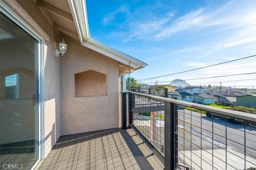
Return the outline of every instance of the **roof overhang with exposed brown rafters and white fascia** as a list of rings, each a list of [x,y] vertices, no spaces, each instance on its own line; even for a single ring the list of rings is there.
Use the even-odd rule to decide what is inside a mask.
[[[52,23],[54,29],[80,41],[84,47],[118,61],[120,74],[135,71],[148,65],[90,38],[85,0],[38,0],[37,4],[45,10],[42,13]],[[67,6],[69,6],[69,10],[67,10]],[[64,20],[61,22],[58,18]]]

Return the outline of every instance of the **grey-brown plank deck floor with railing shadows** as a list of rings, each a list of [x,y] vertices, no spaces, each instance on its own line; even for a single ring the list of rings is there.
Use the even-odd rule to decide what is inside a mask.
[[[133,129],[110,129],[58,139],[39,170],[162,170]]]

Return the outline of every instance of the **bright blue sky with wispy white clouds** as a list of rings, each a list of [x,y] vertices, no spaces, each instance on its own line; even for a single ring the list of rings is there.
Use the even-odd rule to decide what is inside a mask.
[[[137,80],[256,55],[256,0],[86,0],[86,6],[93,39],[148,63],[131,74]],[[255,65],[251,57],[142,83],[179,78],[256,88],[256,74],[188,80],[252,73]]]

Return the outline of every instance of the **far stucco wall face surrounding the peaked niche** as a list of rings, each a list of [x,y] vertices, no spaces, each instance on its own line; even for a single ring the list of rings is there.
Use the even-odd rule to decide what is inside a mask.
[[[59,57],[62,135],[118,127],[118,62],[71,39],[64,40],[68,49]],[[75,97],[74,74],[88,70],[106,74],[106,96]]]

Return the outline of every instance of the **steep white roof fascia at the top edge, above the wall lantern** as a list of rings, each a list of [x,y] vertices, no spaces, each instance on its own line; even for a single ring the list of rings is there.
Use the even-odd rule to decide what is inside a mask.
[[[68,0],[81,45],[90,38],[86,4],[84,0]]]

